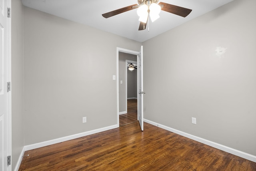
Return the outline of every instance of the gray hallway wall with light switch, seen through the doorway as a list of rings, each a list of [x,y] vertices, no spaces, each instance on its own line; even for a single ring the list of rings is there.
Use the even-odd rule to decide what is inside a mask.
[[[126,60],[137,61],[137,56],[119,52],[119,112],[126,111]],[[128,73],[127,73],[128,74]],[[120,81],[123,84],[120,84]],[[127,85],[128,86],[128,85]],[[127,87],[128,89],[128,87]]]

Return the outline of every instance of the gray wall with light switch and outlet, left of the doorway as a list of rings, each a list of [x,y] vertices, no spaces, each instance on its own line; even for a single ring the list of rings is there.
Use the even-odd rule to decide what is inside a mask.
[[[116,125],[116,48],[140,46],[24,7],[25,145]]]

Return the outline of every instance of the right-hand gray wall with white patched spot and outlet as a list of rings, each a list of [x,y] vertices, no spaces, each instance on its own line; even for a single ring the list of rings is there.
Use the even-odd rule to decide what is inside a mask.
[[[143,42],[144,118],[256,155],[255,7],[234,0]]]

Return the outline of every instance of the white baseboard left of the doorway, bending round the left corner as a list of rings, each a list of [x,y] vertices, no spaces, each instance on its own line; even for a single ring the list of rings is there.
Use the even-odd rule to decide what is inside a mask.
[[[18,169],[20,167],[20,163],[22,161],[22,157],[23,157],[25,151],[36,149],[36,148],[40,148],[40,147],[45,147],[47,145],[61,143],[61,142],[68,141],[68,140],[71,140],[71,139],[76,139],[76,138],[84,137],[86,135],[92,135],[94,133],[99,133],[99,132],[107,131],[107,130],[114,129],[114,128],[117,128],[117,127],[119,127],[119,125],[111,125],[111,126],[108,126],[108,127],[103,127],[103,128],[99,128],[99,129],[94,129],[92,131],[86,131],[86,132],[83,132],[83,133],[78,133],[78,134],[69,135],[69,136],[66,136],[66,137],[52,139],[52,140],[44,141],[44,142],[41,142],[41,143],[25,145],[23,147],[21,153],[20,153],[20,157],[18,159],[18,162],[16,164],[16,167],[15,167],[14,171],[18,171]]]

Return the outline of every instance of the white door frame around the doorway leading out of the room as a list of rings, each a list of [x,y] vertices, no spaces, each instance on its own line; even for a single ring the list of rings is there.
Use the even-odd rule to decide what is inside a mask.
[[[117,125],[119,127],[119,52],[126,53],[126,54],[132,54],[136,55],[138,58],[138,55],[140,52],[136,52],[133,50],[128,50],[124,48],[116,48],[116,96],[117,96]],[[127,79],[127,76],[126,76]],[[127,82],[127,81],[126,81]],[[138,83],[137,83],[138,84]],[[127,83],[126,83],[127,86]],[[127,101],[127,89],[126,89],[126,101]],[[127,111],[127,104],[126,104],[126,111]]]

